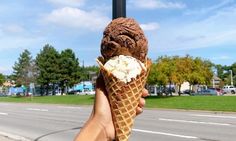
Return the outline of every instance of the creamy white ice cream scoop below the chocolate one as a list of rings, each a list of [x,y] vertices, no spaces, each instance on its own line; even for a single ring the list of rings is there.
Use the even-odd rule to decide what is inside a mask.
[[[112,73],[117,79],[128,83],[135,79],[142,70],[146,70],[144,64],[131,56],[119,55],[109,59],[104,68]]]

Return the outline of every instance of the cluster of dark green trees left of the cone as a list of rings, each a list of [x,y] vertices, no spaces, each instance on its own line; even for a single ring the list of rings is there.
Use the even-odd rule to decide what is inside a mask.
[[[29,86],[30,83],[40,85],[41,94],[48,95],[51,88],[55,94],[55,87],[61,88],[61,93],[80,81],[89,79],[89,72],[98,72],[98,67],[80,66],[79,59],[71,49],[58,52],[53,46],[46,44],[33,59],[31,53],[24,50],[13,66],[10,76],[16,86]]]

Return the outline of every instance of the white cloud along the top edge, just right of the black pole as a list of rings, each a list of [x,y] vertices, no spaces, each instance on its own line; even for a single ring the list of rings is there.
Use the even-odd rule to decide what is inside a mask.
[[[162,0],[129,0],[129,3],[143,9],[182,9],[186,5],[180,2],[166,2]]]

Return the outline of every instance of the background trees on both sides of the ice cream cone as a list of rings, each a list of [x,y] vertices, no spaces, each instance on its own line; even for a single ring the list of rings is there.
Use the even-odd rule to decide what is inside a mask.
[[[97,66],[85,67],[79,64],[79,59],[71,49],[57,51],[53,46],[46,44],[35,58],[26,49],[13,66],[13,74],[7,78],[0,73],[0,86],[6,79],[14,80],[16,86],[29,86],[30,83],[40,85],[40,90],[48,94],[49,87],[59,86],[62,92],[65,88],[83,80],[90,79],[90,73],[98,73]],[[230,71],[232,71],[233,84],[236,84],[236,62],[231,66],[213,64],[200,57],[161,56],[151,67],[147,83],[149,85],[167,86],[175,84],[180,93],[181,84],[189,82],[192,85],[211,85],[215,74],[222,81],[220,87],[231,84]],[[43,91],[41,92],[43,93]],[[55,91],[53,91],[55,94]]]

